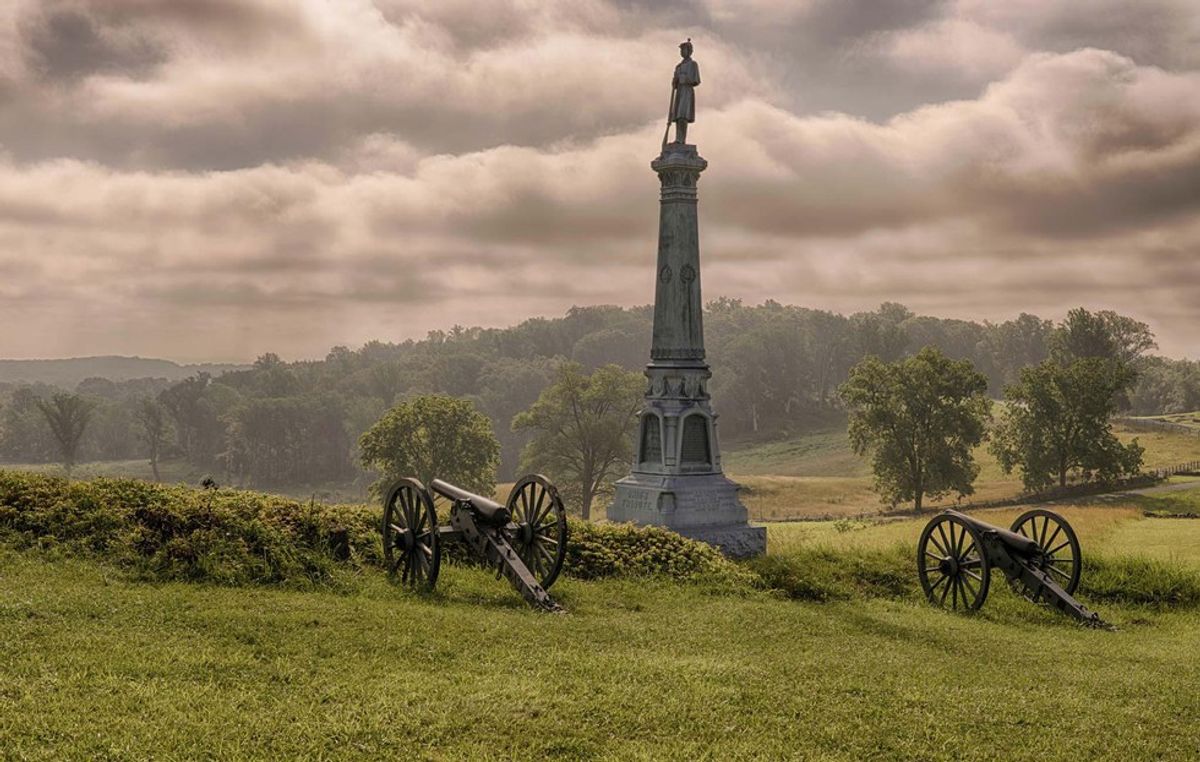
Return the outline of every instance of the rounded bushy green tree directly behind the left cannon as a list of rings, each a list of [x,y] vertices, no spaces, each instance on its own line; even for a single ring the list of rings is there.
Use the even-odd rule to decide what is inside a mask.
[[[492,421],[470,402],[422,395],[384,413],[359,439],[359,457],[382,474],[377,490],[416,476],[426,485],[443,479],[491,496],[500,445]]]

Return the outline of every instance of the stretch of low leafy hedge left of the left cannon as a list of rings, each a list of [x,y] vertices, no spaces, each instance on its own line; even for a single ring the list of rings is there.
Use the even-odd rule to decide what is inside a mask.
[[[378,563],[374,522],[364,506],[257,492],[0,472],[8,541],[100,557],[154,580],[324,582],[338,565],[335,542],[348,545],[352,564]]]

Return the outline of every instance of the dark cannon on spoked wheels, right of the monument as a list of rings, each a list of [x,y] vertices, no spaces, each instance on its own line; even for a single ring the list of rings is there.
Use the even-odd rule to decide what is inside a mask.
[[[976,611],[988,599],[991,570],[1033,602],[1086,624],[1099,616],[1072,595],[1082,559],[1079,538],[1067,520],[1044,509],[1026,511],[1008,529],[947,510],[930,520],[917,544],[917,571],[925,598],[937,606]]]

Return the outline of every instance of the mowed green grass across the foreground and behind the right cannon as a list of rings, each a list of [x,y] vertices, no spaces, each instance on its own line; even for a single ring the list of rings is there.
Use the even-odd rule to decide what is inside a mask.
[[[1200,521],[1064,512],[1085,556],[1200,568]],[[911,548],[922,524],[772,524],[770,552]],[[1168,546],[1145,542],[1158,527]],[[554,592],[570,613],[550,616],[461,568],[421,596],[374,572],[316,592],[150,584],[0,551],[0,756],[1200,755],[1200,612],[1104,604],[1118,629],[1088,630],[1004,588],[961,616],[907,599],[565,580]]]

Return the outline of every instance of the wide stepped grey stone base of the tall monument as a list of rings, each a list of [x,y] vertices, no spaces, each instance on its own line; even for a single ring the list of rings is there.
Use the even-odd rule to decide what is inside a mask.
[[[665,527],[734,558],[767,550],[766,527],[751,527],[738,485],[724,474],[632,473],[617,482],[608,520]]]

